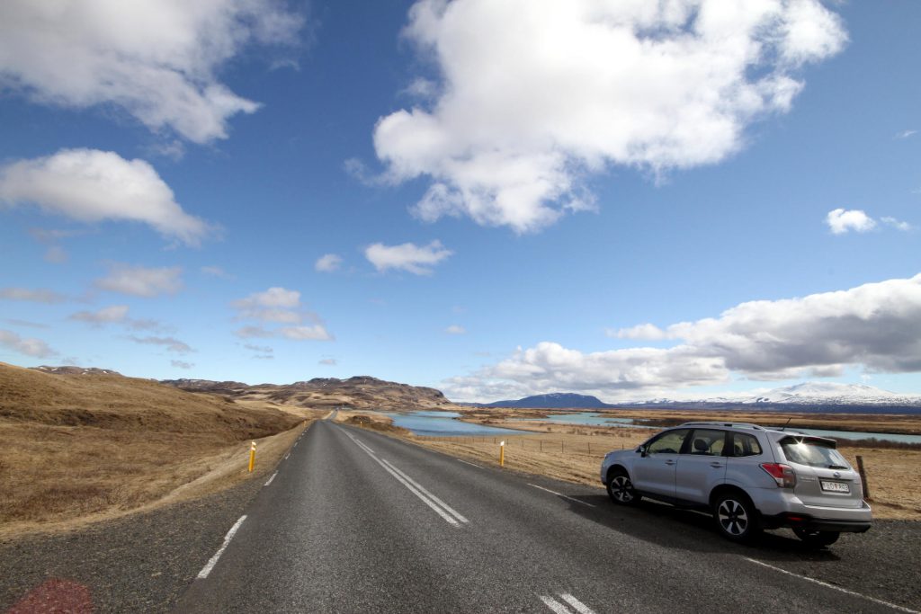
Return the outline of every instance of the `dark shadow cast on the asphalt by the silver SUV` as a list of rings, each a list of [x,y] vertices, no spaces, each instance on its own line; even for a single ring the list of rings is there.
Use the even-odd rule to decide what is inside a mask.
[[[787,529],[765,531],[751,544],[737,544],[720,536],[713,517],[701,512],[646,500],[635,506],[614,505],[606,494],[582,494],[577,499],[594,507],[570,501],[574,514],[664,548],[735,553],[769,561],[840,560],[834,546],[831,550],[810,547]]]

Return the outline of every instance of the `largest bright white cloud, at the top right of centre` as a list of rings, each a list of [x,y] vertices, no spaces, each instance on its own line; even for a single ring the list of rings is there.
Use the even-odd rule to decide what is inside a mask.
[[[425,220],[519,233],[593,208],[586,176],[610,165],[659,174],[737,152],[847,38],[816,0],[419,0],[404,36],[439,81],[379,119],[386,176],[431,181]]]

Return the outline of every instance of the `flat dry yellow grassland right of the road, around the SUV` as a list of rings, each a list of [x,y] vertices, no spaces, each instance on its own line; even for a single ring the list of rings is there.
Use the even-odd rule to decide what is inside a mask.
[[[514,416],[539,417],[545,416],[544,411],[532,412],[533,415],[522,415],[521,411],[491,410],[474,411],[468,415],[471,422],[486,423],[493,426],[522,429],[526,432],[521,435],[505,435],[501,437],[420,437],[413,434],[399,434],[408,441],[431,449],[444,452],[450,456],[468,458],[480,464],[498,466],[500,440],[506,442],[505,466],[507,469],[544,475],[556,480],[571,481],[601,488],[599,469],[601,459],[612,450],[630,449],[643,443],[649,436],[655,434],[654,430],[576,426],[561,423],[520,423],[507,420]],[[372,415],[373,422],[389,423],[386,416]],[[619,414],[620,415],[620,414]],[[727,420],[728,418],[714,415],[692,414],[682,412],[679,414],[682,422],[692,420]],[[784,414],[783,422],[790,417]],[[623,417],[634,417],[624,415]],[[637,416],[638,417],[638,416]],[[666,416],[668,417],[668,416]],[[805,424],[798,421],[802,418],[814,423],[814,428],[836,428],[840,424],[840,416],[830,415],[830,423],[810,414],[795,416],[797,425],[806,428]],[[777,416],[757,416],[756,414],[744,417],[745,422],[772,423]],[[767,422],[764,422],[764,421]],[[913,432],[918,428],[917,416],[904,416],[897,418],[904,431]],[[735,422],[741,422],[740,417],[734,417]],[[781,424],[783,423],[781,422]],[[874,416],[875,423],[884,423],[879,416]],[[855,428],[850,430],[869,431],[869,428],[857,428],[857,420],[848,421]],[[380,429],[377,429],[380,430]],[[404,429],[400,429],[403,431]],[[886,430],[886,429],[882,429]],[[857,455],[863,457],[867,470],[871,504],[876,518],[892,518],[905,520],[921,520],[921,490],[915,488],[917,475],[921,469],[921,450],[899,449],[898,446],[884,446],[864,444],[852,445],[840,440],[839,448],[845,458],[857,467]]]

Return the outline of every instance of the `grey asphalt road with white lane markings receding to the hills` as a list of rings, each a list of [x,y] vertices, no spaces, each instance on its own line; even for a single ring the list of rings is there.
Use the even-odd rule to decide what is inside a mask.
[[[902,525],[814,551],[782,532],[732,544],[710,522],[318,422],[177,611],[921,609],[918,562],[893,556],[916,539]]]

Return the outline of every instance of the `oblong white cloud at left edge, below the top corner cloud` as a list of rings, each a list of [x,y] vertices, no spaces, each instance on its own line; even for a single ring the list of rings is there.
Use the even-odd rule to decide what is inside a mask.
[[[182,210],[146,161],[97,149],[62,149],[7,164],[0,168],[0,202],[36,204],[81,222],[142,222],[187,245],[200,244],[211,231]]]

